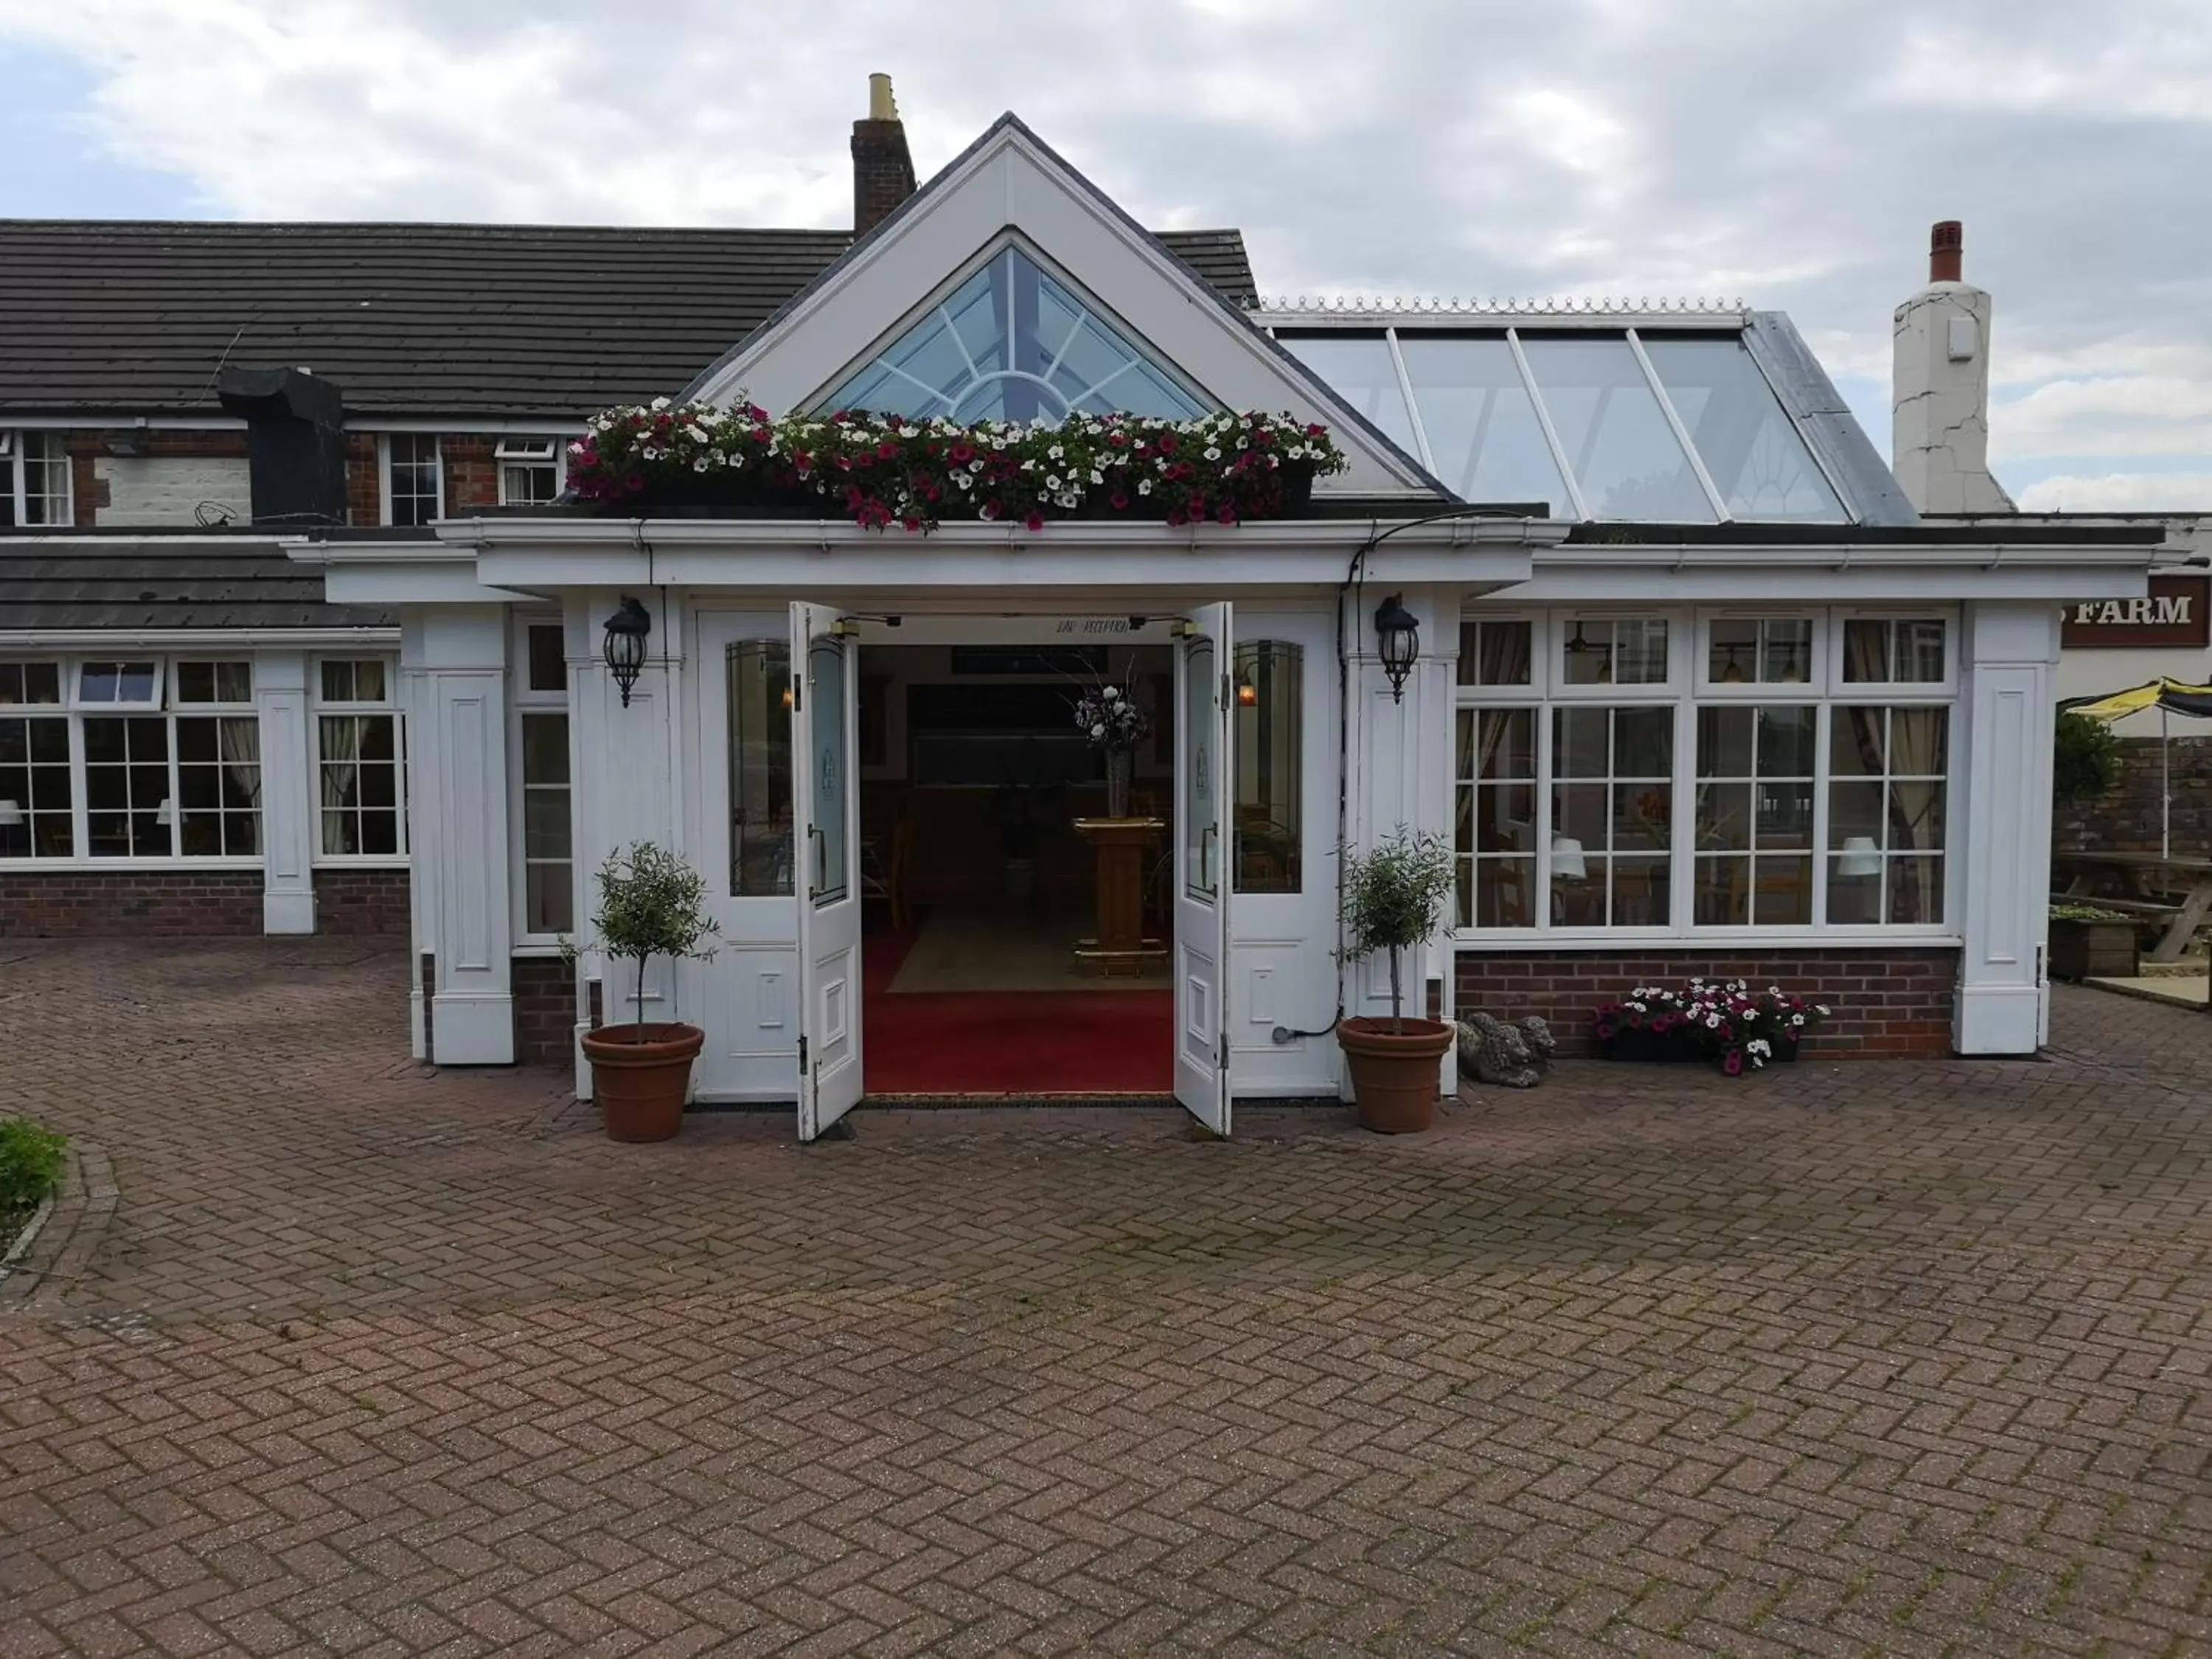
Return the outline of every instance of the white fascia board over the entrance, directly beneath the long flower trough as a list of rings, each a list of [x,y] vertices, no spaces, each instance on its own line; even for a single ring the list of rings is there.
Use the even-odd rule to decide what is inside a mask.
[[[701,586],[759,593],[993,593],[1113,588],[1230,593],[1336,588],[1371,520],[1188,526],[1053,522],[945,524],[931,535],[792,520],[476,520],[476,571],[500,588]],[[1557,542],[1555,520],[1438,520],[1391,535],[1367,560],[1369,584],[1526,582],[1531,546]]]

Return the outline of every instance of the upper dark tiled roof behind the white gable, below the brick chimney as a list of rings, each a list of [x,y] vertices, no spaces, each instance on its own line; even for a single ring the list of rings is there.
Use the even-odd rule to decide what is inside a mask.
[[[1237,230],[1161,241],[1252,303]],[[0,219],[0,409],[212,414],[215,369],[312,367],[354,414],[562,416],[675,394],[843,230]]]

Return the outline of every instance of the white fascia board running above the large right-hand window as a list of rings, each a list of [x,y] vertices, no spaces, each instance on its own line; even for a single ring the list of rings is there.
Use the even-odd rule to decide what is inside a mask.
[[[1513,599],[1597,604],[1887,604],[1936,599],[2132,599],[2150,591],[2141,546],[1548,546]]]

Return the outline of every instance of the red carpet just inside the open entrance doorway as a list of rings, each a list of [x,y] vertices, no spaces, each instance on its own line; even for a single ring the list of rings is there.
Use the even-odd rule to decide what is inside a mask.
[[[902,991],[911,936],[860,947],[860,1071],[872,1095],[1168,1095],[1168,991]]]

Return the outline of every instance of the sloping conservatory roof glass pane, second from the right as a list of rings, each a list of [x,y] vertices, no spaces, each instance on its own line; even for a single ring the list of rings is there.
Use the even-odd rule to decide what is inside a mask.
[[[1522,352],[1593,518],[1714,522],[1712,502],[1626,338],[1524,334]]]

